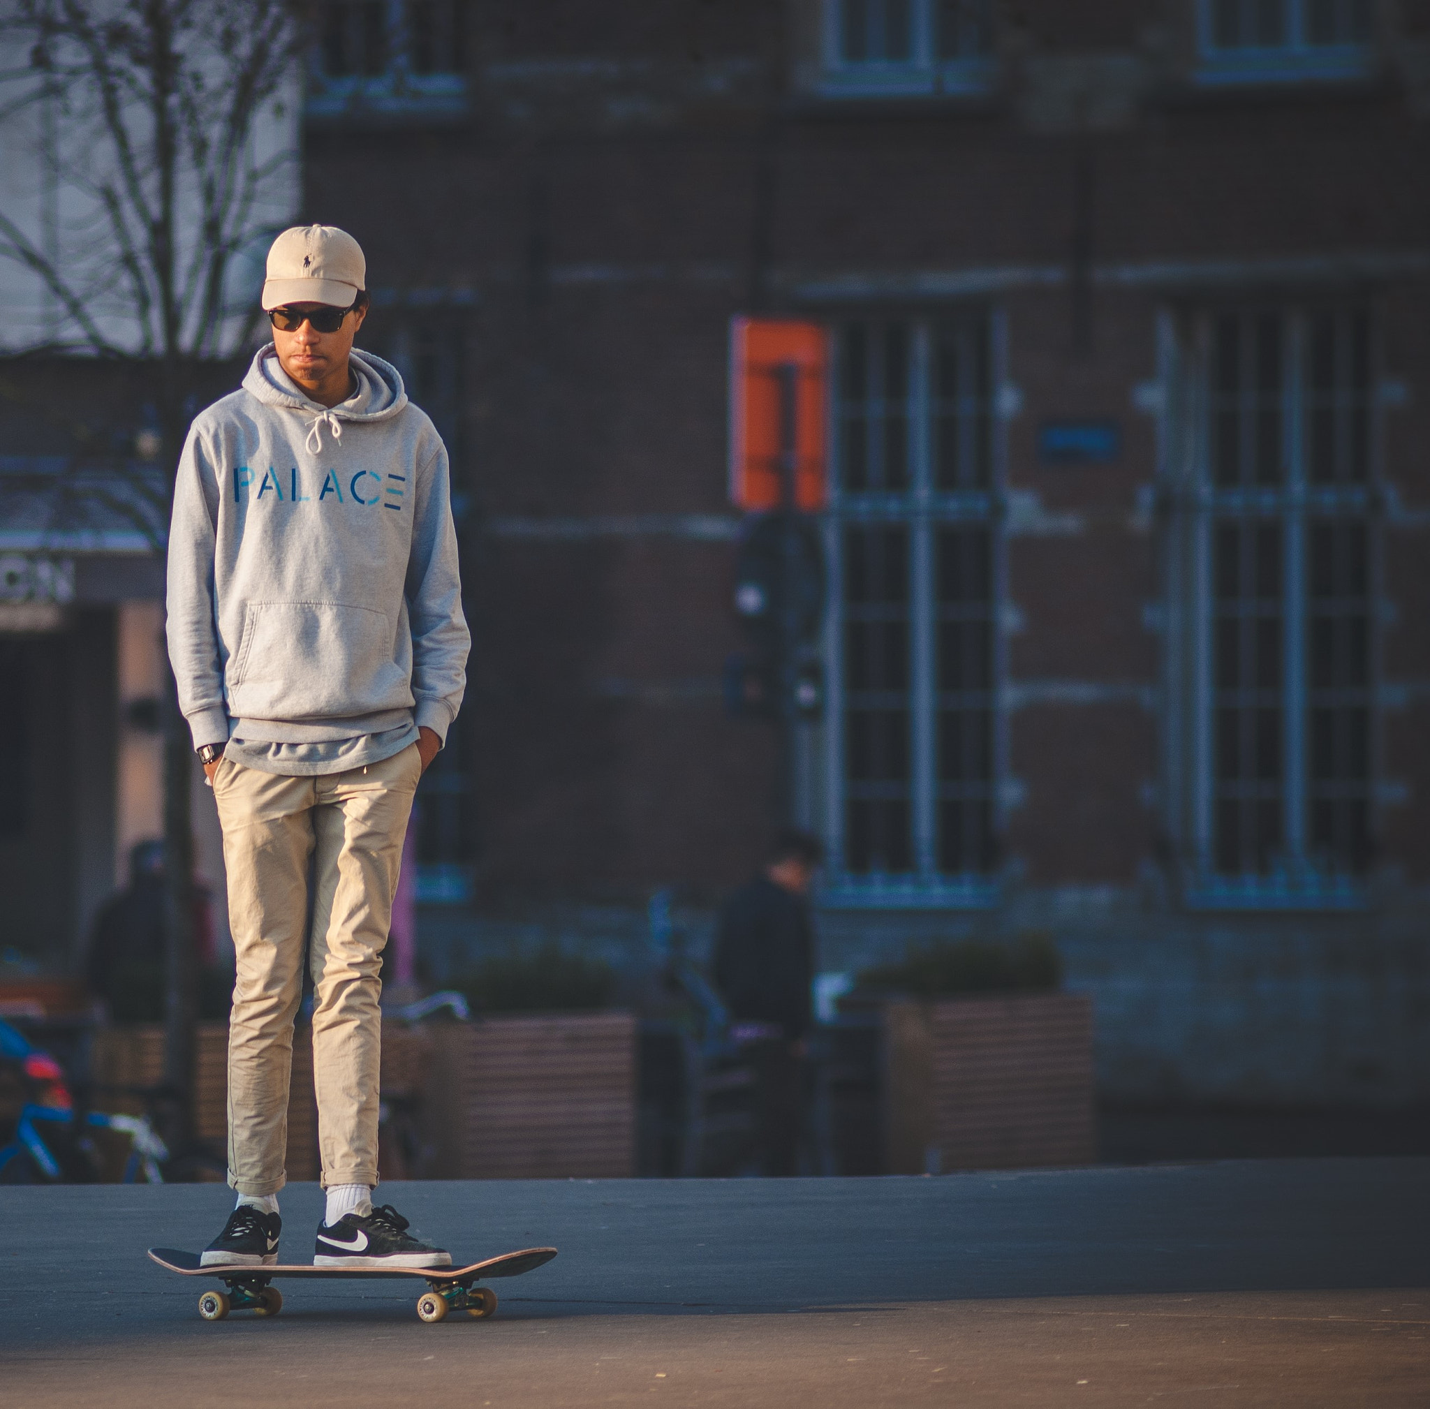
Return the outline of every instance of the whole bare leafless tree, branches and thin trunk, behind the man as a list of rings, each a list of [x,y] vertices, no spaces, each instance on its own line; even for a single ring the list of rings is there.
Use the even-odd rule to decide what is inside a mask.
[[[56,250],[44,250],[20,219],[4,215],[0,257],[41,280],[87,350],[143,368],[160,436],[157,463],[140,468],[106,455],[64,476],[50,514],[89,524],[82,511],[97,508],[109,521],[132,525],[159,554],[180,445],[206,385],[203,359],[232,346],[235,325],[246,336],[257,316],[249,308],[236,319],[226,300],[235,259],[263,233],[259,203],[289,156],[260,160],[255,130],[263,104],[292,73],[303,0],[6,3],[11,19],[0,27],[33,40],[33,49],[27,89],[0,106],[0,123],[27,120],[39,93],[54,94],[72,140],[63,159],[47,153],[44,160],[49,175],[83,193],[87,205],[72,212],[69,226],[86,245],[79,259],[69,250],[61,267]],[[21,76],[0,73],[0,82],[7,79]],[[93,137],[89,146],[76,140],[80,132]],[[83,273],[72,273],[72,262]],[[90,298],[87,285],[94,286]],[[116,308],[126,332],[112,335],[104,319]],[[127,352],[119,346],[126,336],[133,343]],[[164,1071],[189,1093],[197,1011],[192,755],[172,688],[164,698]],[[190,1129],[189,1104],[180,1106],[172,1131],[179,1139]]]

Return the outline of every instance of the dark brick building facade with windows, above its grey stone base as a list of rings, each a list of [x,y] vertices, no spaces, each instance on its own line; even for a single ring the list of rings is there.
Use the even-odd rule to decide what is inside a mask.
[[[369,10],[326,11],[306,209],[460,446],[429,861],[589,895],[758,855],[774,741],[719,689],[754,310],[835,335],[831,907],[1426,880],[1413,6],[432,3],[382,47]]]

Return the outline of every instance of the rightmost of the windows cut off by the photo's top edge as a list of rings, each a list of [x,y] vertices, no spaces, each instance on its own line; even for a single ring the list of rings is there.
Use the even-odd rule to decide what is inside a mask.
[[[1208,83],[1347,79],[1371,63],[1373,0],[1203,0]]]

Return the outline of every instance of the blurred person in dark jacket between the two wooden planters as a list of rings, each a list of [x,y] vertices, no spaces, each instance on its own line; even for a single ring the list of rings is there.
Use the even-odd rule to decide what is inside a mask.
[[[772,1176],[798,1172],[814,1018],[809,888],[822,860],[818,837],[782,831],[764,871],[721,907],[715,936],[715,986],[758,1074],[761,1167]]]

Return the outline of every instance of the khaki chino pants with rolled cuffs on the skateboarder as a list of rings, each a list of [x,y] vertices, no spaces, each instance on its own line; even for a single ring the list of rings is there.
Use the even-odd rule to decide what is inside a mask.
[[[366,768],[303,778],[219,761],[213,795],[237,956],[229,1183],[242,1194],[277,1193],[286,1180],[305,951],[323,1187],[378,1183],[379,973],[420,775],[416,744]]]

